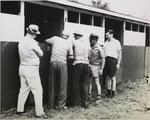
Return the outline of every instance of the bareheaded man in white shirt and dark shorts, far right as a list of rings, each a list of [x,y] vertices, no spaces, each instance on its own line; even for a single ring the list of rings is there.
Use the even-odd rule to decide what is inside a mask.
[[[121,44],[113,38],[113,30],[106,32],[106,42],[104,43],[104,52],[106,62],[104,68],[104,76],[108,76],[107,97],[114,97],[116,91],[116,71],[120,68],[121,62]]]

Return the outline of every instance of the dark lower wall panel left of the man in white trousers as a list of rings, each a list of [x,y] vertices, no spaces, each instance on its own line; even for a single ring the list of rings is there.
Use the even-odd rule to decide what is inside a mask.
[[[19,92],[17,42],[1,42],[1,107],[16,106]]]

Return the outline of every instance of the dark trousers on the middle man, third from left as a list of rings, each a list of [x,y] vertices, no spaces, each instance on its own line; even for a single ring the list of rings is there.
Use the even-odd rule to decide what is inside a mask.
[[[87,100],[89,87],[89,68],[88,64],[76,64],[73,70],[73,105],[75,105],[78,97],[78,89],[80,90],[81,102]]]

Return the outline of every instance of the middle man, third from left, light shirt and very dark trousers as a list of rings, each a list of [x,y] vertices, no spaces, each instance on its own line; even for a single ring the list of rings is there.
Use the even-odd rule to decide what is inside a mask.
[[[89,44],[82,38],[81,32],[75,32],[74,48],[74,72],[73,72],[73,106],[76,104],[78,88],[80,89],[80,97],[82,107],[88,108],[88,86],[89,86],[89,71],[88,71],[88,51]]]

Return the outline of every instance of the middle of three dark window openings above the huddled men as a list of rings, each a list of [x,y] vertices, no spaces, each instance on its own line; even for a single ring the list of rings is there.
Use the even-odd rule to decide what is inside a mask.
[[[81,13],[81,24],[92,25],[92,16],[88,14]]]

